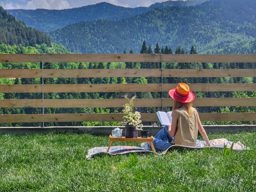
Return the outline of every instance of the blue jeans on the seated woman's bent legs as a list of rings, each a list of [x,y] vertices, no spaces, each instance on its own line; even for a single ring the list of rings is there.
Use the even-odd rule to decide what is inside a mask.
[[[170,146],[174,145],[171,143],[171,141],[174,139],[174,137],[171,137],[168,133],[168,126],[164,126],[158,134],[155,135],[153,140],[153,145],[156,150],[164,151],[168,149]],[[149,145],[149,143],[148,143]],[[151,149],[150,145],[149,148]],[[152,150],[152,149],[151,149]]]

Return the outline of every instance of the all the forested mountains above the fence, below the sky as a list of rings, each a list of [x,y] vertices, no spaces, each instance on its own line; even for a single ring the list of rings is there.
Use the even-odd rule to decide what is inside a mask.
[[[149,46],[158,42],[188,52],[192,45],[198,53],[256,52],[255,0],[165,1],[137,8],[102,2],[65,10],[8,11],[26,21],[0,7],[0,43],[10,45],[51,46],[52,41],[74,53],[122,53],[124,48],[139,53],[145,40]],[[45,34],[27,25],[59,29]]]

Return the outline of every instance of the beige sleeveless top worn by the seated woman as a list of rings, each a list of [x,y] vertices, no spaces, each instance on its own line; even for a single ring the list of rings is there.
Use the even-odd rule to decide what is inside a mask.
[[[176,133],[171,143],[175,145],[196,146],[198,125],[196,111],[191,109],[192,116],[188,116],[185,107],[178,108],[179,116]]]

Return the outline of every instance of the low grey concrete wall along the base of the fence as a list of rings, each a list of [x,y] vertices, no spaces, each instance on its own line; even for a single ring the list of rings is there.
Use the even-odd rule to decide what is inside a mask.
[[[256,132],[256,125],[214,125],[203,126],[207,133],[238,133],[238,132]],[[90,133],[92,135],[110,135],[111,130],[116,127],[100,126],[100,127],[0,127],[1,134],[47,134],[47,133]],[[124,127],[119,127],[124,129]],[[144,126],[143,130],[148,130],[150,135],[156,135],[162,127]],[[139,131],[140,133],[140,131]],[[124,130],[123,130],[124,134]]]

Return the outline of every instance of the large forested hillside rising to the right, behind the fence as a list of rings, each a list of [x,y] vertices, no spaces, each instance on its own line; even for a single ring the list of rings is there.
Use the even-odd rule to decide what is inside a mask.
[[[255,40],[255,0],[211,0],[198,6],[151,9],[119,21],[79,22],[50,32],[52,41],[71,52],[120,53],[124,47],[139,52],[146,39],[199,53],[239,53]]]

